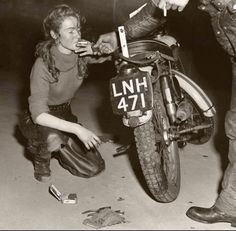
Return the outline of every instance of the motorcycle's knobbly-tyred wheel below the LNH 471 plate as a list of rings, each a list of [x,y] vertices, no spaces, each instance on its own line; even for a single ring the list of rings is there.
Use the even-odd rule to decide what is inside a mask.
[[[177,141],[167,143],[168,116],[158,87],[154,88],[153,117],[134,129],[136,148],[147,186],[158,202],[174,201],[180,190],[180,159]]]

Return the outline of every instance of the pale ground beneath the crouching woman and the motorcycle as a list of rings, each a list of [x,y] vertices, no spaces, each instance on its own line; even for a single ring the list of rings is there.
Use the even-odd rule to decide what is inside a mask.
[[[111,206],[125,212],[127,223],[104,229],[146,230],[210,230],[231,229],[229,224],[206,225],[186,217],[193,205],[211,206],[222,177],[222,155],[227,155],[224,132],[217,127],[210,142],[201,146],[188,145],[181,152],[181,191],[176,201],[157,203],[147,194],[142,181],[135,149],[114,157],[116,148],[132,142],[131,130],[111,113],[107,82],[86,82],[73,101],[79,120],[99,135],[118,136],[119,143],[105,143],[100,152],[106,170],[97,177],[83,179],[72,176],[57,160],[52,159],[52,180],[38,183],[33,178],[33,166],[24,156],[22,138],[16,130],[21,109],[24,82],[16,74],[1,72],[0,85],[0,229],[91,229],[82,224],[88,209]],[[227,92],[209,90],[217,101],[219,115],[225,112]],[[220,105],[220,106],[219,106]],[[220,119],[218,119],[219,121]],[[63,205],[48,192],[53,183],[63,193],[77,193],[77,205]]]

